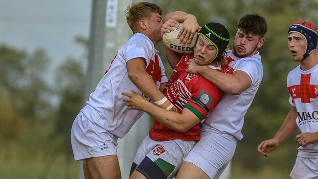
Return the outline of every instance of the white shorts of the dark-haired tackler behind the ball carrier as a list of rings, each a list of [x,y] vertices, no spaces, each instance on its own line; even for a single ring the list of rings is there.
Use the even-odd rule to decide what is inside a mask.
[[[210,179],[218,179],[232,159],[235,148],[233,135],[221,134],[213,128],[201,129],[201,139],[184,161],[201,168]]]

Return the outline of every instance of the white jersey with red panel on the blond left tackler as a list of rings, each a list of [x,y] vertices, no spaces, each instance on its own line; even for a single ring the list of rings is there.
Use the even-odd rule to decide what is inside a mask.
[[[134,58],[146,59],[146,71],[152,76],[159,88],[168,81],[164,67],[152,41],[141,33],[136,33],[117,52],[103,78],[89,101],[81,110],[92,123],[122,138],[131,129],[143,111],[128,110],[122,100],[127,98],[121,92],[142,92],[130,81],[126,63]],[[143,94],[144,95],[144,94]],[[145,96],[145,95],[144,95]],[[147,97],[148,100],[149,97]]]

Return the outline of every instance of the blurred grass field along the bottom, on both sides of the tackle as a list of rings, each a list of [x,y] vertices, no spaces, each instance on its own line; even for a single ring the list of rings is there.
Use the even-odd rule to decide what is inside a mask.
[[[20,144],[6,143],[0,148],[0,179],[78,179],[79,162],[73,156],[54,154],[54,149],[25,150]],[[40,152],[37,152],[40,151]],[[264,165],[255,171],[232,162],[230,179],[290,179],[291,168]]]

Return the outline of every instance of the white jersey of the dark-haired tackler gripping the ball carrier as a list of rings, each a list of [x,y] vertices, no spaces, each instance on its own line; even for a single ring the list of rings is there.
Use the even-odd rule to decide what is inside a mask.
[[[215,128],[221,133],[232,134],[238,140],[243,138],[241,133],[244,124],[244,115],[250,107],[258,87],[263,78],[261,56],[257,52],[247,58],[234,56],[232,50],[227,50],[229,67],[232,70],[246,72],[252,81],[251,86],[239,95],[224,93],[220,103],[205,119],[203,128]]]

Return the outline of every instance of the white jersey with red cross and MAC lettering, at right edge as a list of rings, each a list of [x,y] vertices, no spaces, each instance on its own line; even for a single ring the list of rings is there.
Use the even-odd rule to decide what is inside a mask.
[[[298,113],[295,122],[300,132],[316,133],[318,131],[318,65],[307,71],[301,70],[300,66],[293,69],[287,76],[287,88],[290,94],[289,101],[296,107]],[[309,144],[305,148],[299,147],[298,150],[317,153],[318,143]],[[301,153],[298,153],[298,156],[299,154]]]

